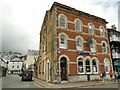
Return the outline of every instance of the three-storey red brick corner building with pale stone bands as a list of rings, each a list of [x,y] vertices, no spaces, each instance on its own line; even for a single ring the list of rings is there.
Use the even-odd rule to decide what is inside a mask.
[[[54,2],[40,31],[38,78],[51,83],[95,80],[112,70],[106,20]]]

